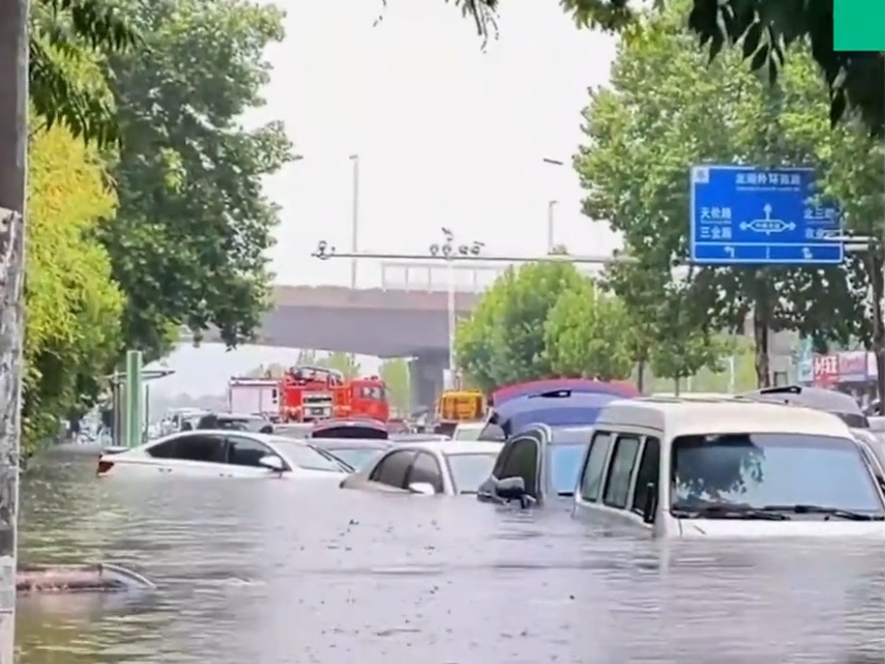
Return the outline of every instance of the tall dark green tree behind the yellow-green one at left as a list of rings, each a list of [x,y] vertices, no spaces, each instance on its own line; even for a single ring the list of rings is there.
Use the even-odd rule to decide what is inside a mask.
[[[262,179],[291,157],[283,125],[241,124],[268,80],[281,12],[239,0],[126,0],[143,41],[110,58],[123,147],[101,234],[128,296],[126,336],[162,354],[183,324],[234,346],[267,306],[277,208]]]

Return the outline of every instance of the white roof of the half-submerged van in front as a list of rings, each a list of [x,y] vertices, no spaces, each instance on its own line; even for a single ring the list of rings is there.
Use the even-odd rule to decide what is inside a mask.
[[[612,401],[599,413],[596,427],[605,430],[607,424],[633,424],[674,435],[791,433],[851,437],[844,422],[824,411],[727,398]]]

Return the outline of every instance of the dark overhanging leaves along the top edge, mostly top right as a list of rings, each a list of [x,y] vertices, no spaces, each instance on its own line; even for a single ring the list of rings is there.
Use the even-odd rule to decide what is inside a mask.
[[[496,33],[495,14],[501,0],[451,0],[470,16],[483,38]],[[660,10],[678,5],[679,16],[692,33],[686,46],[705,47],[715,59],[727,45],[738,45],[739,56],[749,60],[747,69],[759,71],[774,81],[789,48],[804,50],[811,45],[815,64],[827,85],[828,110],[832,124],[851,108],[871,134],[885,135],[885,60],[881,53],[834,50],[832,1],[816,0],[655,0]],[[563,10],[579,27],[600,27],[608,32],[634,32],[644,18],[627,0],[560,0]],[[633,3],[635,4],[635,3]],[[706,56],[705,56],[706,57]],[[698,71],[715,78],[715,71]],[[820,75],[818,75],[820,76]]]

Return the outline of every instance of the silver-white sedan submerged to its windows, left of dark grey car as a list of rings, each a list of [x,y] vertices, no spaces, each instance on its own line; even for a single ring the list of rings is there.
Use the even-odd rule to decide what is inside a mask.
[[[476,493],[501,451],[502,443],[422,440],[390,448],[372,463],[342,481],[342,489],[423,495]]]

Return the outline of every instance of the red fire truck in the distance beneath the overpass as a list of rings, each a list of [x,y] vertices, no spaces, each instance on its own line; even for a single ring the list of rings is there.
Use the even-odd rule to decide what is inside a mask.
[[[347,380],[341,371],[296,365],[280,379],[280,419],[315,422],[332,417],[371,417],[387,422],[387,387],[378,376]]]

